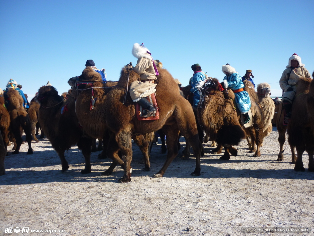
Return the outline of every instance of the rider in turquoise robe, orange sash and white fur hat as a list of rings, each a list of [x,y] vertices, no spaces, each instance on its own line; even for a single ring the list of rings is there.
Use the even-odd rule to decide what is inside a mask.
[[[249,94],[243,90],[244,84],[241,80],[241,76],[229,63],[222,66],[222,72],[226,75],[223,80],[223,85],[225,88],[230,87],[235,93],[236,106],[243,114],[244,124],[247,124],[250,121],[248,111],[251,108],[251,100]]]

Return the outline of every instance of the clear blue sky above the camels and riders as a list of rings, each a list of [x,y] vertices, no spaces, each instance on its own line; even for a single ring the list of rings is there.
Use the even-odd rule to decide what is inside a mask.
[[[124,65],[136,64],[133,44],[143,42],[183,85],[195,63],[220,81],[229,63],[279,96],[293,53],[314,70],[313,8],[313,0],[0,0],[0,87],[12,78],[32,98],[49,80],[61,94],[87,59],[117,81]]]

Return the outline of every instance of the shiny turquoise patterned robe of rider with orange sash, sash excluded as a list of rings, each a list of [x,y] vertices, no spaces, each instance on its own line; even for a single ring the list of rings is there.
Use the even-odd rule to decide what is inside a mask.
[[[238,73],[233,73],[224,77],[224,80],[227,80],[228,87],[232,91],[235,91],[240,88],[244,88],[242,79]],[[236,106],[241,113],[248,112],[251,108],[251,100],[249,94],[246,91],[241,91],[235,93]]]

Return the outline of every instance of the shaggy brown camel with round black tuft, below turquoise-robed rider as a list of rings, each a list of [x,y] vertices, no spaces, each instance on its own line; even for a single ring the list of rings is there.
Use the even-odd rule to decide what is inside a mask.
[[[245,133],[240,126],[234,104],[230,99],[225,99],[222,90],[218,79],[208,78],[201,91],[197,114],[200,125],[209,137],[216,140],[219,147],[225,148],[225,154],[220,159],[229,160],[229,152],[233,156],[238,153],[232,145],[238,145]]]

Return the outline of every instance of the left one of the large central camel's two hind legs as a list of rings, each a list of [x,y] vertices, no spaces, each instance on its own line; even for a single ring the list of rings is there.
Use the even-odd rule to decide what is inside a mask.
[[[160,169],[160,171],[154,174],[153,176],[154,178],[163,177],[165,174],[165,171],[167,170],[172,160],[176,157],[176,155],[178,155],[177,140],[179,138],[179,130],[166,125],[162,128],[162,131],[165,133],[167,137],[167,149],[168,149],[167,160],[165,161],[165,164]]]

